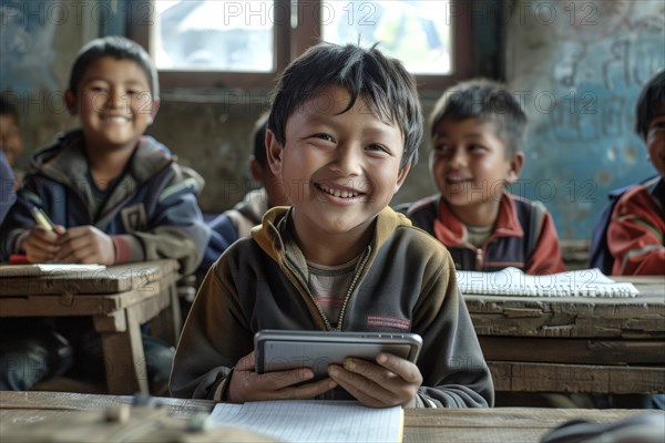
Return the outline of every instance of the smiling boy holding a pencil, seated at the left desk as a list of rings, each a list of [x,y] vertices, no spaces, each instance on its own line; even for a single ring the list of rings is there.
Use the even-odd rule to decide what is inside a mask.
[[[31,262],[103,265],[174,258],[182,275],[194,272],[208,230],[194,181],[185,178],[164,145],[143,135],[160,103],[147,53],[120,37],[91,41],[76,56],[64,100],[82,127],[34,154],[33,171],[2,225],[0,255],[25,254]],[[53,229],[35,224],[33,207],[44,210]],[[82,375],[102,375],[101,339],[90,319],[57,318],[53,323],[51,331],[72,344]],[[21,337],[9,331],[2,338],[17,360]],[[23,339],[25,361],[35,347],[45,346],[43,337]],[[143,343],[149,382],[152,388],[164,385],[174,350],[146,333]],[[31,362],[41,370],[30,374],[21,372],[20,359],[17,368],[3,364],[0,385],[30,389],[66,369],[57,354],[42,360]]]

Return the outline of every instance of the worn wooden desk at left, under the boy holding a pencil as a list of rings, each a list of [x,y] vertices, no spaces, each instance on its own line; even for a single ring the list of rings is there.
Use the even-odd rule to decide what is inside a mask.
[[[154,327],[167,328],[170,341],[176,342],[177,269],[175,260],[158,260],[94,272],[0,278],[0,317],[92,317],[102,336],[109,392],[149,393],[140,327],[160,317]]]

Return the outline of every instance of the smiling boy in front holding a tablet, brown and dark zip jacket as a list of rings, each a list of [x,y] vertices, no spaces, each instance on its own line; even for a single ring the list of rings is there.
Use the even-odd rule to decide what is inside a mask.
[[[174,395],[493,403],[448,251],[388,206],[417,159],[422,124],[413,79],[374,47],[320,43],[289,64],[266,146],[291,207],[269,209],[208,271],[178,342]],[[255,372],[262,329],[417,332],[423,347],[417,364],[348,358],[311,381],[306,368]]]

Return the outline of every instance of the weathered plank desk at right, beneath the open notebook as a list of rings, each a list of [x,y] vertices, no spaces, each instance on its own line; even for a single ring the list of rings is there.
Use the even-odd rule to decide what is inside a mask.
[[[495,390],[665,392],[665,277],[621,280],[641,295],[464,296]]]

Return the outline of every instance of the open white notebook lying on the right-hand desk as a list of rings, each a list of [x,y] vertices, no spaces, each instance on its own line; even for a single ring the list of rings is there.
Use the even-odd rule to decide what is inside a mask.
[[[548,276],[530,276],[518,268],[495,272],[458,270],[462,293],[525,297],[635,297],[633,284],[616,282],[600,269],[571,270]]]

